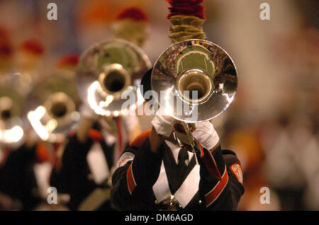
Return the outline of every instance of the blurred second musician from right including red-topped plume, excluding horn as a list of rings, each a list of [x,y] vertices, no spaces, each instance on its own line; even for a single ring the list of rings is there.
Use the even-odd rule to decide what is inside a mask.
[[[147,16],[139,8],[126,8],[114,22],[114,35],[141,46],[146,40]],[[131,29],[136,28],[136,29]],[[130,30],[130,32],[128,32]],[[82,105],[82,119],[69,135],[61,168],[51,184],[70,195],[71,210],[113,210],[109,201],[111,175],[128,142],[141,132],[136,115],[101,117]]]

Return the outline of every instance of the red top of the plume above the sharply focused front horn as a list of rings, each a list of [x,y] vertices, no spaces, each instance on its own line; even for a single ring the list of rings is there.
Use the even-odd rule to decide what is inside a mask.
[[[205,17],[205,8],[201,6],[203,0],[165,0],[172,7],[169,7],[169,15],[167,19],[171,18],[171,16],[196,16],[198,18],[206,18]]]

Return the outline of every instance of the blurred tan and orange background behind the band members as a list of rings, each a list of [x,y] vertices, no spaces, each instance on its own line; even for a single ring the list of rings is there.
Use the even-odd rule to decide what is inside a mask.
[[[56,1],[57,21],[47,19],[50,2],[0,0],[0,76],[28,68],[44,79],[60,57],[112,38],[111,25],[128,6],[149,17],[142,49],[152,64],[171,45],[164,0]],[[262,2],[270,6],[269,21],[259,18]],[[235,100],[213,125],[223,149],[242,162],[245,194],[238,210],[318,210],[318,1],[206,0],[203,6],[206,39],[237,67]],[[38,43],[31,53],[23,47],[27,40]],[[150,128],[152,117],[139,119],[142,129]],[[269,204],[260,202],[262,187],[270,190]],[[6,201],[3,195],[0,206]]]

